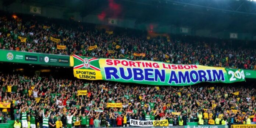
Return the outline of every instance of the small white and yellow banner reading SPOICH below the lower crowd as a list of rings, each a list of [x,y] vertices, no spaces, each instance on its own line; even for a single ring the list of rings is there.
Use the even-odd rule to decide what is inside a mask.
[[[141,120],[134,120],[130,119],[131,126],[168,126],[168,120],[148,120],[148,121],[141,121]]]

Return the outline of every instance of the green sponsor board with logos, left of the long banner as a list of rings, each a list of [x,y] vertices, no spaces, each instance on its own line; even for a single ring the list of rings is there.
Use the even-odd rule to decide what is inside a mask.
[[[31,53],[0,49],[0,61],[10,63],[70,66],[70,57],[57,54]]]

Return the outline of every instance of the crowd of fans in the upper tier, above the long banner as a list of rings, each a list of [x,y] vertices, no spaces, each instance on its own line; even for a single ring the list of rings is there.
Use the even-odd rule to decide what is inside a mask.
[[[115,31],[111,34],[99,27],[32,19],[17,18],[16,15],[0,17],[0,49],[256,70],[256,49],[248,42],[231,43],[216,39],[206,42],[171,36],[147,39],[147,35]],[[18,36],[27,38],[26,43]],[[53,42],[50,37],[60,39],[60,42]],[[59,50],[57,45],[65,45],[66,49]],[[96,49],[88,50],[95,45]],[[134,56],[134,53],[145,53],[145,57]]]

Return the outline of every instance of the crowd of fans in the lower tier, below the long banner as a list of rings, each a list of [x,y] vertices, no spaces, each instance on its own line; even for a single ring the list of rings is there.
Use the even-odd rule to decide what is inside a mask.
[[[117,127],[129,125],[129,119],[168,119],[170,125],[256,123],[255,83],[139,86],[1,74],[0,85],[1,102],[11,103],[10,109],[1,109],[0,121],[21,120],[23,128],[38,123],[40,128]],[[78,96],[77,90],[87,90],[88,95]],[[122,107],[106,107],[106,103],[122,103]]]

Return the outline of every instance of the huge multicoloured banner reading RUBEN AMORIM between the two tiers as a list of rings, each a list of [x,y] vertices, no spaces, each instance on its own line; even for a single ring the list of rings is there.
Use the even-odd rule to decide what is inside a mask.
[[[186,86],[200,82],[245,81],[243,70],[154,61],[74,57],[74,76],[79,79],[130,82],[147,85]]]

